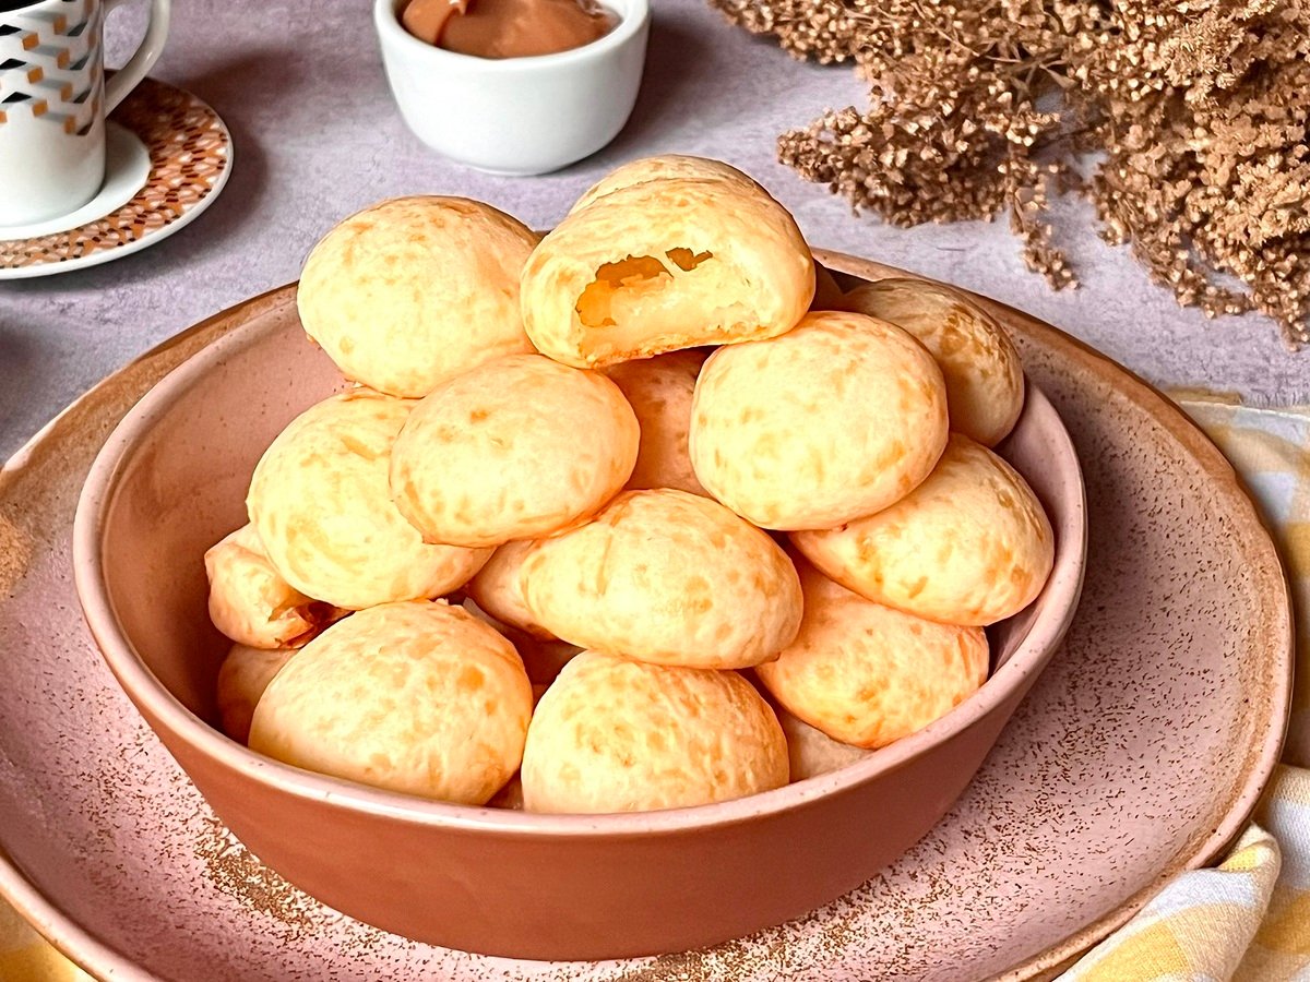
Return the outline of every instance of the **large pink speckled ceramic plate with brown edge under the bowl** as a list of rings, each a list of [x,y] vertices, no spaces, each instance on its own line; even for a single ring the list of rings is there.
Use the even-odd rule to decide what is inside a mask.
[[[68,533],[132,402],[234,325],[293,318],[286,288],[117,373],[0,473],[0,893],[92,973],[131,982],[1048,977],[1239,831],[1277,759],[1292,627],[1273,546],[1205,437],[1124,371],[998,310],[1079,449],[1083,600],[950,814],[858,890],[709,951],[515,962],[345,918],[223,829],[86,636]]]

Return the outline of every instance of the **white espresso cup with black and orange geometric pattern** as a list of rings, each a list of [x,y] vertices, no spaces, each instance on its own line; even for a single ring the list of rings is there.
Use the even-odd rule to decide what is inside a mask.
[[[105,181],[105,114],[145,77],[168,37],[149,0],[145,38],[105,81],[105,14],[126,0],[0,0],[0,232],[66,215]]]

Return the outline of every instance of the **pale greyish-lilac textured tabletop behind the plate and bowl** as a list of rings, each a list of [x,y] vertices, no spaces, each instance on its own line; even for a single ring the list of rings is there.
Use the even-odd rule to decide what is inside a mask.
[[[136,5],[139,7],[139,5]],[[190,227],[135,255],[0,283],[0,460],[97,380],[244,297],[293,280],[338,219],[381,198],[455,192],[549,227],[593,181],[662,152],[727,160],[795,213],[806,237],[977,289],[1078,335],[1149,381],[1310,402],[1310,351],[1289,354],[1256,316],[1208,321],[1151,285],[1127,249],[1064,209],[1060,242],[1082,287],[1053,293],[1027,272],[1005,221],[895,229],[853,216],[777,164],[776,136],[858,103],[849,68],[791,60],[726,24],[706,0],[654,0],[646,76],[626,130],[557,174],[506,178],[449,164],[397,115],[367,0],[179,0],[152,75],[212,105],[234,140],[232,178]],[[143,20],[114,14],[109,63]]]

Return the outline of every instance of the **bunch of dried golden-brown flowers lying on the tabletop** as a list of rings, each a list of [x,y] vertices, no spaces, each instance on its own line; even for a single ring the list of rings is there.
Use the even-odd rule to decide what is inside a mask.
[[[1007,212],[1060,288],[1076,278],[1044,215],[1052,191],[1078,190],[1179,302],[1258,309],[1310,342],[1310,0],[711,3],[869,82],[866,109],[778,140],[857,211],[896,225]],[[1082,181],[1068,165],[1089,151]]]

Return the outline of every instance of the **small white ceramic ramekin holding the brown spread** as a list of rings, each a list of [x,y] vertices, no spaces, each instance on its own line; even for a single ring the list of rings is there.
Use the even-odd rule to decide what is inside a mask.
[[[406,0],[375,0],[373,25],[396,105],[438,153],[498,174],[544,174],[595,153],[627,122],[641,88],[648,0],[605,0],[618,26],[590,45],[533,58],[474,58],[400,24]]]

